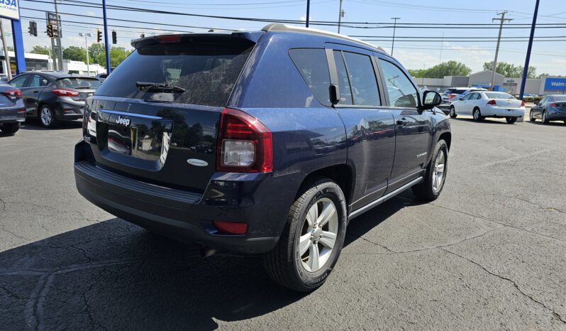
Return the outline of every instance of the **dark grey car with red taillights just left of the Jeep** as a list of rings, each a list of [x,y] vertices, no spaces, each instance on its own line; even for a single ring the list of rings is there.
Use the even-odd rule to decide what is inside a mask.
[[[54,71],[23,73],[8,83],[21,89],[28,116],[37,116],[47,128],[82,118],[84,101],[101,84],[94,77]]]

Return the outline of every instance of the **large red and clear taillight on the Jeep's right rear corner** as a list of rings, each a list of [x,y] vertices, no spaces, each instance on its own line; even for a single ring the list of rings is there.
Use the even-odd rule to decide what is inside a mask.
[[[216,170],[235,173],[272,171],[271,131],[245,112],[223,109],[218,130]]]

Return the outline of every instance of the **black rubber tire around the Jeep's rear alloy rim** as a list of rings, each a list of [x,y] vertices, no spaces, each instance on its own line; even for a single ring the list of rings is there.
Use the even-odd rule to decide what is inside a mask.
[[[337,222],[338,229],[336,230],[335,243],[328,260],[317,271],[310,272],[303,266],[303,259],[299,255],[298,244],[301,232],[304,232],[305,227],[309,228],[306,219],[307,213],[315,203],[317,205],[321,203],[321,200],[331,200],[333,202],[338,215],[338,219],[334,222]],[[338,184],[328,178],[316,178],[309,185],[304,185],[301,195],[297,197],[289,210],[287,223],[277,246],[263,256],[267,273],[273,281],[294,291],[309,292],[315,290],[326,281],[336,261],[338,261],[338,256],[340,256],[340,251],[344,244],[346,224],[346,201]],[[312,242],[312,238],[311,236],[309,247],[315,245]],[[318,245],[316,243],[317,247]],[[309,253],[310,250],[307,250],[304,254]]]

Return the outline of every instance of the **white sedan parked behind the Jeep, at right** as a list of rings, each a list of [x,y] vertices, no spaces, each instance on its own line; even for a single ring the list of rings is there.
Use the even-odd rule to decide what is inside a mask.
[[[458,115],[472,115],[475,121],[504,117],[511,124],[525,116],[525,102],[505,92],[472,92],[450,104],[450,117]]]

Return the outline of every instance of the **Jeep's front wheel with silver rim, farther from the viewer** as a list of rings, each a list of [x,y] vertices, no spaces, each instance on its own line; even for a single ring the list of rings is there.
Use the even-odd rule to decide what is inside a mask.
[[[436,143],[433,158],[426,167],[423,182],[413,186],[413,194],[421,200],[436,200],[444,188],[447,171],[448,145],[445,141],[440,140]]]

